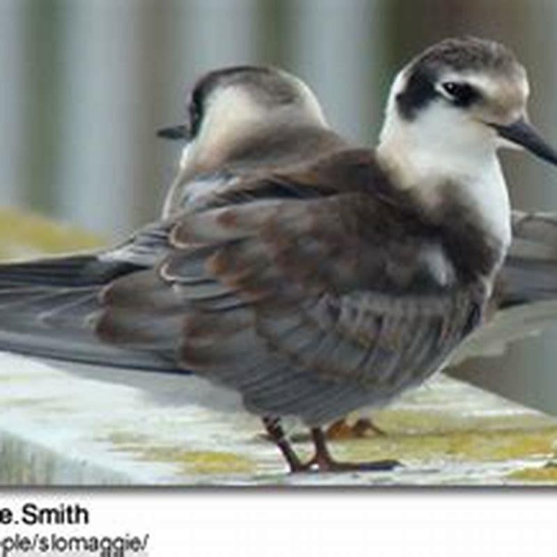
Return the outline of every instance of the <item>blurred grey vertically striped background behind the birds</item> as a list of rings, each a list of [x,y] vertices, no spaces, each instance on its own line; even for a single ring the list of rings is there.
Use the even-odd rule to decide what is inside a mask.
[[[0,0],[0,204],[116,240],[156,217],[196,77],[269,63],[308,82],[331,123],[372,145],[395,71],[459,34],[528,68],[531,118],[557,144],[555,0]],[[557,175],[504,155],[516,207],[557,210]],[[473,363],[557,411],[557,332]]]

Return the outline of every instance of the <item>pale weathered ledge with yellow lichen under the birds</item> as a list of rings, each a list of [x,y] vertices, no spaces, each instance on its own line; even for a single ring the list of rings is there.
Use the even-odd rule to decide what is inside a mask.
[[[144,383],[136,389],[93,381],[0,354],[0,483],[557,483],[557,468],[551,465],[557,421],[454,379],[439,376],[376,413],[386,436],[331,444],[342,459],[397,458],[404,468],[297,476],[285,474],[281,457],[262,437],[256,419],[191,402],[196,393],[210,397],[211,390],[200,380],[165,378],[162,383],[160,392],[148,392]],[[164,391],[166,398],[160,395]],[[306,441],[296,446],[309,453]]]

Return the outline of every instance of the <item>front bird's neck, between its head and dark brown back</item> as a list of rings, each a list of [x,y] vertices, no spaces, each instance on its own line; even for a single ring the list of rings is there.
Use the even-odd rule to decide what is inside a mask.
[[[501,165],[489,137],[428,133],[420,127],[386,123],[377,148],[379,164],[396,187],[411,191],[425,210],[478,228],[502,262],[510,245],[510,201]]]

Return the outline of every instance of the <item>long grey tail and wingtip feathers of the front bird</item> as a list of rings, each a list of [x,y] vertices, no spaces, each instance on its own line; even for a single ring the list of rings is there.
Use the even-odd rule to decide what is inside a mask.
[[[100,290],[143,269],[96,255],[0,265],[0,350],[117,368],[177,371],[162,354],[123,350],[95,334]]]

